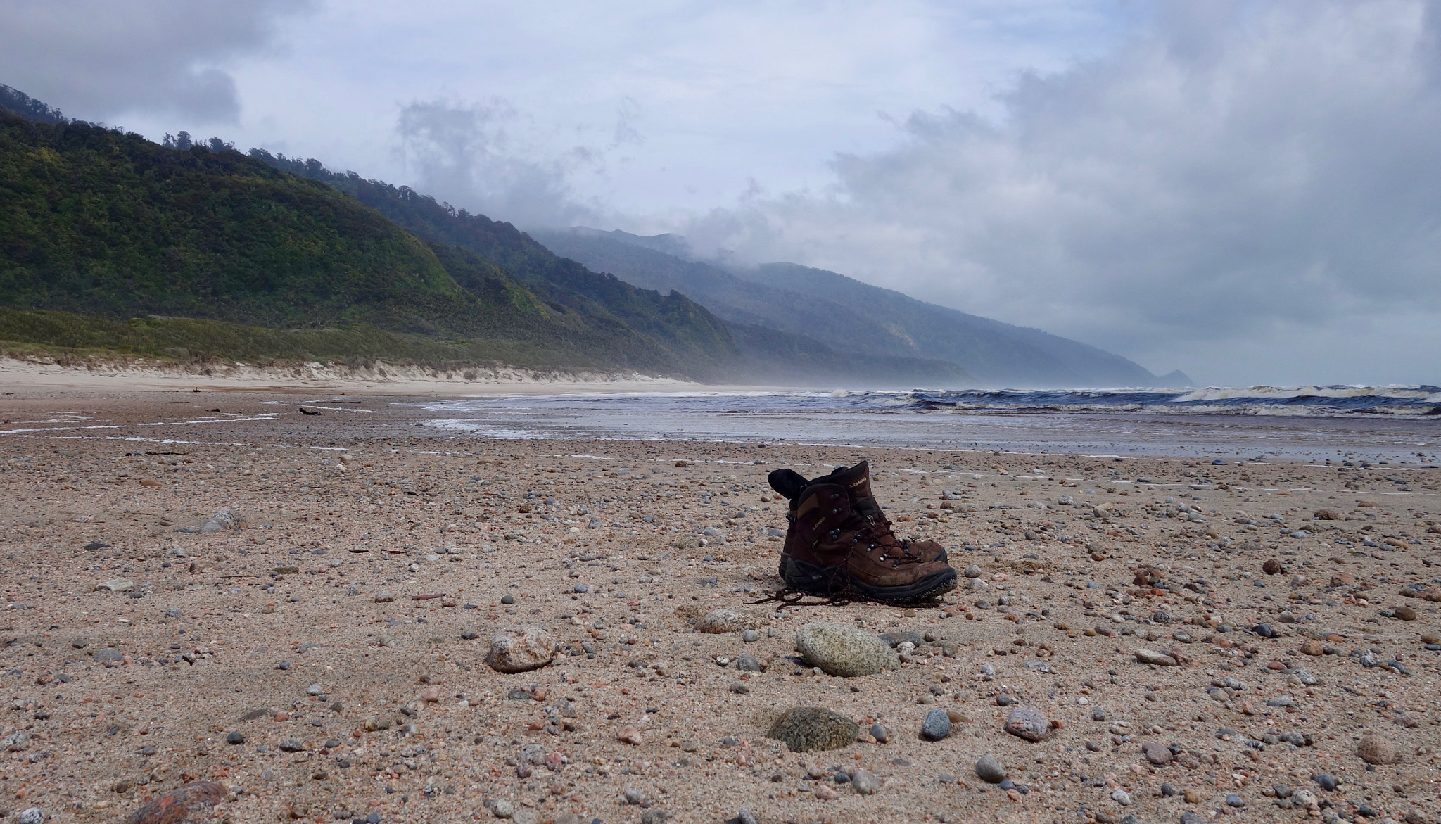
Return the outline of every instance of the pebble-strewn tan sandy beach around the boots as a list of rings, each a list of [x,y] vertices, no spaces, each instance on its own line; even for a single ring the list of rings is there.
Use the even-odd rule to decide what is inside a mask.
[[[0,372],[12,814],[118,821],[197,781],[235,823],[1441,810],[1441,470],[477,439],[415,405],[464,379],[35,372]],[[767,473],[859,460],[961,588],[764,602]],[[722,609],[736,631],[696,631]],[[795,651],[816,621],[886,634],[898,668],[826,674]],[[548,666],[487,664],[530,627]],[[767,733],[793,707],[859,735],[790,752]]]

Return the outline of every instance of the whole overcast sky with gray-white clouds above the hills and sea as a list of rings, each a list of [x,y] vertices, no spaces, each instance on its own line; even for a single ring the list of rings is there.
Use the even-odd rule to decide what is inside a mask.
[[[0,0],[0,82],[1203,383],[1441,383],[1441,4]]]

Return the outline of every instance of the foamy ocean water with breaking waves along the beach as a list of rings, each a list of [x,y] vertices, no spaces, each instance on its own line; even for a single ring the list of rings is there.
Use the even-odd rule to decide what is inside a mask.
[[[624,438],[1087,455],[1441,460],[1441,388],[503,395],[424,402],[486,439]]]

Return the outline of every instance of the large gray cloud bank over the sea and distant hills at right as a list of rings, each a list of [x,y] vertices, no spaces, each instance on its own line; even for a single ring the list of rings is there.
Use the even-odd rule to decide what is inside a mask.
[[[915,114],[899,147],[839,156],[833,192],[682,230],[1156,367],[1281,376],[1320,346],[1334,376],[1435,380],[1402,337],[1391,363],[1356,363],[1347,328],[1441,343],[1424,331],[1441,328],[1438,7],[1177,4],[1104,58],[1023,76],[1000,121]]]

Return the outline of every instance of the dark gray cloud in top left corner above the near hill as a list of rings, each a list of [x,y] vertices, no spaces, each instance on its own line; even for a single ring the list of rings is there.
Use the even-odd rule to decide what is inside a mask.
[[[235,59],[272,48],[311,0],[4,0],[0,82],[81,120],[235,122]]]

